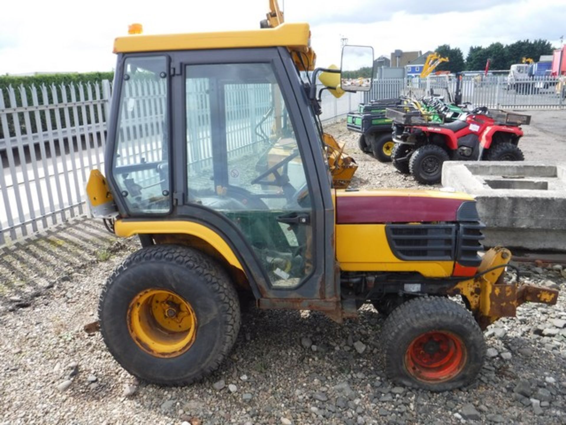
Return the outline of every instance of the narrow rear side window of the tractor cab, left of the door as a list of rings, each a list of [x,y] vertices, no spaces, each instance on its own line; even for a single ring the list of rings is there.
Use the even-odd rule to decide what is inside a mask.
[[[122,75],[113,175],[128,210],[170,210],[167,59],[128,58]]]

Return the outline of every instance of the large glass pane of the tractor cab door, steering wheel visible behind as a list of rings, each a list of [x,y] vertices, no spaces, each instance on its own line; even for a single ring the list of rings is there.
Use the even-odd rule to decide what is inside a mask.
[[[186,75],[189,202],[233,220],[273,286],[297,286],[313,267],[310,192],[271,65],[190,65]]]

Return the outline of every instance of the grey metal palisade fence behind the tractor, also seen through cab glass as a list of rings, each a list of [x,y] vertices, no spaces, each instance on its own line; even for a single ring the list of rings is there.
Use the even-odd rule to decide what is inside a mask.
[[[465,76],[461,80],[462,101],[491,108],[563,108],[564,82],[560,79],[530,79],[510,86],[504,76]],[[321,92],[323,122],[333,122],[357,109],[358,103],[400,95],[423,96],[434,91],[453,92],[456,79],[375,80],[370,92],[346,94],[336,99]],[[156,84],[133,87],[131,104],[123,111],[126,125],[119,138],[119,162],[132,155],[152,158],[161,154],[160,126],[165,96]],[[200,108],[198,119],[188,122],[188,161],[205,165],[211,156],[206,139],[209,111],[204,96],[207,87],[191,87],[187,102]],[[104,171],[106,121],[109,115],[110,82],[50,87],[9,87],[0,90],[0,245],[18,237],[65,222],[85,213],[85,185],[93,168]],[[249,149],[256,139],[258,123],[264,120],[271,92],[258,87],[235,85],[226,91],[226,126],[229,150]],[[242,114],[241,103],[253,113]],[[200,111],[199,109],[199,111]],[[263,120],[263,121],[262,121]],[[132,157],[133,158],[133,157]],[[155,176],[148,176],[155,179]],[[148,183],[149,184],[149,183]]]

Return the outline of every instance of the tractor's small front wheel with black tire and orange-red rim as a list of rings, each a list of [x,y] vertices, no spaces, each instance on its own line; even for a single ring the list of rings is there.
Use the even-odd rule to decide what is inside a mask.
[[[486,353],[471,313],[434,296],[411,299],[393,310],[381,331],[381,347],[389,379],[438,392],[471,384]]]

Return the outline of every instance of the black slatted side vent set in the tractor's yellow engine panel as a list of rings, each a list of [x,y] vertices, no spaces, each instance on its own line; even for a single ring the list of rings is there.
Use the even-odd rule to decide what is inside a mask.
[[[453,260],[456,224],[389,224],[389,247],[401,260]]]

